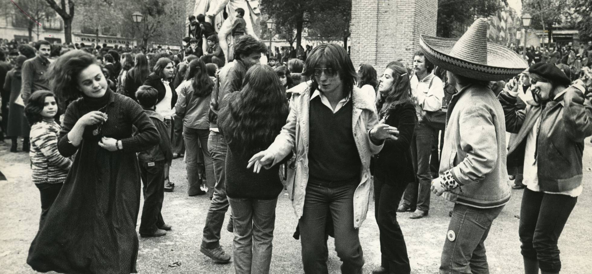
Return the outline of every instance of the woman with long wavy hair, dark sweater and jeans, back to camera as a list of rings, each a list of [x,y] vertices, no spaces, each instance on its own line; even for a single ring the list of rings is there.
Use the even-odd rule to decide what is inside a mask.
[[[251,156],[271,145],[281,131],[288,118],[288,104],[279,78],[269,66],[251,67],[244,83],[241,92],[228,97],[218,125],[229,141],[226,195],[234,222],[234,268],[236,273],[265,274],[269,273],[275,206],[283,185],[279,165],[259,173],[246,167]]]

